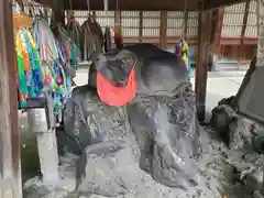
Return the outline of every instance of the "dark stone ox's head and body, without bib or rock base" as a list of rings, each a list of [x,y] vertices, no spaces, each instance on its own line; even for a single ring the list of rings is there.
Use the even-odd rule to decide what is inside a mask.
[[[182,85],[187,84],[185,63],[173,53],[152,44],[125,46],[95,58],[90,68],[90,87],[97,86],[98,72],[113,86],[128,86],[134,69],[136,92],[150,96],[175,96]]]

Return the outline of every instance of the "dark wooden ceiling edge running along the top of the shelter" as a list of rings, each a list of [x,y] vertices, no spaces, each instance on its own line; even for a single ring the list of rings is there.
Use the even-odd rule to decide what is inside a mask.
[[[35,0],[36,2],[53,7],[64,3],[65,10],[88,10],[88,0]],[[90,10],[103,10],[103,0],[89,0]],[[205,9],[227,7],[245,0],[204,0]],[[202,0],[118,0],[119,10],[136,11],[183,11],[187,4],[188,11],[198,10]],[[108,10],[117,10],[117,0],[108,0]]]

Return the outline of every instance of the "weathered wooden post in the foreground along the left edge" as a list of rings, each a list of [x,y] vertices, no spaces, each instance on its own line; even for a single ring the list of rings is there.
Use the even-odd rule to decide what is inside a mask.
[[[22,198],[12,1],[0,12],[0,197]]]

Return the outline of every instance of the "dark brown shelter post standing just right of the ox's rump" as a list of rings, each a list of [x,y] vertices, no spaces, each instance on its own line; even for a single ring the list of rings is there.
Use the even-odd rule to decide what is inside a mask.
[[[211,15],[211,11],[205,11],[204,3],[200,3],[195,91],[198,120],[201,122],[205,120],[206,116],[207,68],[210,63]]]

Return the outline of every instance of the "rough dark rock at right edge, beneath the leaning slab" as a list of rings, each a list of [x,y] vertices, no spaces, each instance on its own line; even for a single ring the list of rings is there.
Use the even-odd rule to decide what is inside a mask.
[[[256,153],[264,145],[260,125],[238,114],[231,103],[232,98],[219,102],[212,110],[211,124],[230,148],[227,162],[233,168],[233,183],[241,184],[240,189],[250,191],[252,197],[260,197],[264,163],[263,156]]]

